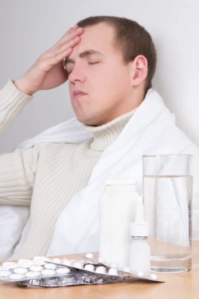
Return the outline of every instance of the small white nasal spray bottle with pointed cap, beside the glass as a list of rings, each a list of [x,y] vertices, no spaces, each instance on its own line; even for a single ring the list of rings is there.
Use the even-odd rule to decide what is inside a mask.
[[[149,224],[144,220],[143,198],[139,196],[135,221],[130,225],[132,244],[129,250],[129,267],[132,274],[148,276],[150,267],[150,246],[147,243]]]

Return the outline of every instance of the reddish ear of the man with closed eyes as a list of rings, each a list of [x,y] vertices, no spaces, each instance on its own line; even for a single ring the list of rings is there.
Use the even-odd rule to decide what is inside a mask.
[[[131,80],[133,86],[140,85],[147,77],[148,74],[148,61],[145,56],[138,55],[132,61]]]

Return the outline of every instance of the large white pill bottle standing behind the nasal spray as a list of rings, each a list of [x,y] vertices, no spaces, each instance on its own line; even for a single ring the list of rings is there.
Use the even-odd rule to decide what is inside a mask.
[[[100,258],[115,261],[120,268],[129,265],[131,244],[130,223],[137,205],[137,184],[134,179],[109,179],[100,198]]]

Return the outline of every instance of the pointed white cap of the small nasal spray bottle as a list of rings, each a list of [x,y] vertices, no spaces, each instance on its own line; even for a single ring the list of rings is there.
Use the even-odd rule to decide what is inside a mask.
[[[135,221],[130,225],[131,236],[148,237],[149,224],[144,220],[144,205],[142,196],[138,196]]]

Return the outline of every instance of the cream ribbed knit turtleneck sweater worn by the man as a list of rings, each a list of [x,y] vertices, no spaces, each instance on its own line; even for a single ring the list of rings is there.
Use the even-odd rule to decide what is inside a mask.
[[[33,98],[9,79],[0,90],[0,132]],[[99,126],[85,126],[94,138],[82,143],[40,143],[0,155],[0,204],[30,205],[30,229],[10,259],[46,255],[56,220],[84,188],[101,153],[120,134],[134,110]],[[69,228],[70,229],[70,228]]]

